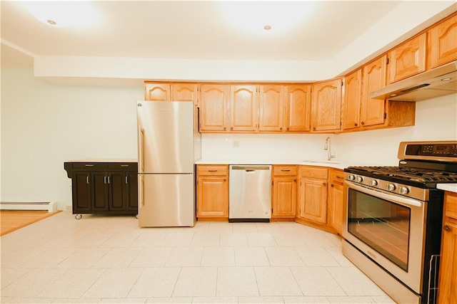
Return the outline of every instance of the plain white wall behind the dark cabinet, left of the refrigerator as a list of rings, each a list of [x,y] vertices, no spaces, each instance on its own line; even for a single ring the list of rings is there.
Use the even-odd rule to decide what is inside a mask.
[[[1,201],[71,205],[64,162],[136,158],[143,88],[71,87],[1,70]]]

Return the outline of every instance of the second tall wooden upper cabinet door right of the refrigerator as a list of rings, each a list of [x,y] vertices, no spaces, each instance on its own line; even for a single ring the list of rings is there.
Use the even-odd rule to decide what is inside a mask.
[[[258,86],[231,85],[230,130],[258,130]]]

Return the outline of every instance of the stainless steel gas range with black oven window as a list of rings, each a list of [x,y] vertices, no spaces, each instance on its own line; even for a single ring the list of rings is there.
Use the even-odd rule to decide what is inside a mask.
[[[401,142],[398,167],[347,167],[343,254],[398,303],[435,303],[457,142]]]

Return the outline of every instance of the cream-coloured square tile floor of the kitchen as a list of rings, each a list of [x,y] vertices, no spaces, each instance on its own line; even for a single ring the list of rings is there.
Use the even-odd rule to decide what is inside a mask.
[[[1,303],[395,303],[293,222],[139,228],[70,211],[2,236]]]

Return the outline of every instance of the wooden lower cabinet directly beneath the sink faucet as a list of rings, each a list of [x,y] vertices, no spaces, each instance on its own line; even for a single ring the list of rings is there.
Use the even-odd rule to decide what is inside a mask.
[[[301,166],[298,194],[298,220],[307,224],[327,224],[327,178],[328,169]]]

